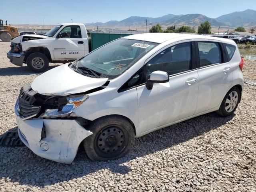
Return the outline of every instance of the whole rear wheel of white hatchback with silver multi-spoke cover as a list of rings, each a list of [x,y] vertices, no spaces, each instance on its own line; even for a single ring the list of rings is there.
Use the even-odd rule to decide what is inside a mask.
[[[241,98],[240,90],[238,89],[238,87],[233,87],[225,95],[219,110],[216,112],[219,115],[225,116],[225,117],[232,115],[238,106],[238,102],[240,102],[240,98]]]

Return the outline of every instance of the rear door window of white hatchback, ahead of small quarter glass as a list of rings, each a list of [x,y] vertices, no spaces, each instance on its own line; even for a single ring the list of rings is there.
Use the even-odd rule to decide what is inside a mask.
[[[217,42],[198,42],[200,67],[222,63],[220,45]]]

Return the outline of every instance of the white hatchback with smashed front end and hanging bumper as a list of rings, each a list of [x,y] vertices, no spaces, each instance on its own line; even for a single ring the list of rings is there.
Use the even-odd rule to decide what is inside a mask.
[[[25,85],[15,106],[18,134],[56,162],[71,163],[82,142],[92,160],[120,158],[135,137],[213,111],[233,114],[242,67],[232,40],[126,36]]]

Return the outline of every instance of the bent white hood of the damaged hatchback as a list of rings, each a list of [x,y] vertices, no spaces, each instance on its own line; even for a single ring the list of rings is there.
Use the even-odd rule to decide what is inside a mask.
[[[31,88],[43,95],[70,95],[102,86],[107,80],[84,76],[64,64],[35,78]]]

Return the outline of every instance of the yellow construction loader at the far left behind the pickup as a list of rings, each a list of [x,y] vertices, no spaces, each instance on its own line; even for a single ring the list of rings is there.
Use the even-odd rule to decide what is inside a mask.
[[[2,41],[10,41],[20,35],[18,28],[7,25],[7,21],[5,24],[6,25],[4,25],[3,20],[0,19],[0,39]]]

